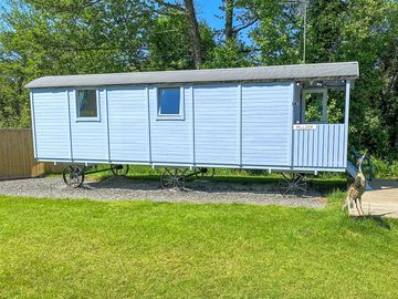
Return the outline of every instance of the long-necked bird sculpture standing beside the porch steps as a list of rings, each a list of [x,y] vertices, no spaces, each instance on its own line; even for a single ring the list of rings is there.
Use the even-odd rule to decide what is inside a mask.
[[[350,205],[354,202],[359,216],[365,215],[364,209],[362,207],[362,196],[365,193],[365,188],[366,188],[366,177],[362,171],[362,164],[365,156],[366,156],[366,152],[357,161],[358,172],[354,178],[354,183],[349,186],[347,196],[342,205],[342,210],[344,210],[348,205]]]

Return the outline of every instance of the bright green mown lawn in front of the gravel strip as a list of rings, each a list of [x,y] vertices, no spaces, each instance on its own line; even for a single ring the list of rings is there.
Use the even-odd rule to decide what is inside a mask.
[[[0,298],[397,298],[398,223],[324,209],[0,197]]]

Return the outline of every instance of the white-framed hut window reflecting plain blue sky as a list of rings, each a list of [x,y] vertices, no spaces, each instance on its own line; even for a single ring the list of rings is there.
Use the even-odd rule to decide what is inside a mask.
[[[184,120],[184,99],[179,87],[158,89],[158,120]]]

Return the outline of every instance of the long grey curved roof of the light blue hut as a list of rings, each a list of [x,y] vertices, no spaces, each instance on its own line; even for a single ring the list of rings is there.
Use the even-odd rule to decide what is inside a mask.
[[[337,62],[238,69],[51,75],[35,79],[29,82],[24,87],[41,89],[160,83],[343,80],[356,79],[358,75],[359,70],[357,62]]]

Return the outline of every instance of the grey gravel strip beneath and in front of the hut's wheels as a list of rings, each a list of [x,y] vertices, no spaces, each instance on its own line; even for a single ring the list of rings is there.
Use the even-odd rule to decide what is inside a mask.
[[[150,199],[172,203],[240,203],[321,208],[320,194],[283,197],[272,185],[260,183],[226,183],[197,179],[187,183],[187,190],[165,190],[158,182],[109,177],[102,182],[85,182],[83,187],[67,187],[62,177],[0,181],[0,195],[51,198],[90,198],[98,200]]]

